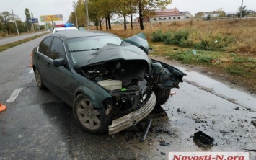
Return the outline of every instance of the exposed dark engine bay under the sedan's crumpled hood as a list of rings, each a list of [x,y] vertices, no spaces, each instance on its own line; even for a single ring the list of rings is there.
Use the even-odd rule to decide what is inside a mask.
[[[85,66],[77,72],[110,92],[115,117],[138,110],[152,92],[149,65],[143,60],[108,61]]]

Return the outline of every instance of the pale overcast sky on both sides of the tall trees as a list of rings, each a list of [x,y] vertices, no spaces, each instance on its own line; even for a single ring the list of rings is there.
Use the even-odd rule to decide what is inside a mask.
[[[177,8],[182,11],[188,11],[195,15],[197,12],[214,11],[224,9],[226,13],[237,12],[241,6],[242,0],[172,0],[172,4],[167,8]],[[247,9],[256,10],[256,0],[244,0],[244,6]],[[69,14],[73,11],[72,0],[0,0],[0,12],[14,11],[19,18],[25,21],[25,8],[30,10],[30,13],[40,19],[40,15],[63,14],[63,22],[69,19]],[[84,15],[85,16],[85,15]],[[40,23],[41,24],[41,23]]]

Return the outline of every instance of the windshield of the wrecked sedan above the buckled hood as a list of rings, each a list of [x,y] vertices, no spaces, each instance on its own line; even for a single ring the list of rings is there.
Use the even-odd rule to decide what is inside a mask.
[[[95,37],[77,37],[67,40],[69,53],[74,63],[87,55],[92,55],[95,50],[99,50],[107,43],[120,45],[122,40],[113,35]]]

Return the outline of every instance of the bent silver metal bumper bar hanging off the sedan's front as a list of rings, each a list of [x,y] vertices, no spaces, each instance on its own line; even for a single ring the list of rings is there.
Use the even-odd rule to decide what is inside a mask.
[[[144,119],[144,117],[149,115],[149,113],[154,109],[155,105],[156,95],[154,94],[154,92],[152,92],[151,97],[143,107],[134,112],[129,113],[128,115],[113,120],[112,125],[108,127],[108,133],[110,135],[113,135],[115,133],[120,132],[121,130],[125,130],[126,128],[135,125],[136,123]]]

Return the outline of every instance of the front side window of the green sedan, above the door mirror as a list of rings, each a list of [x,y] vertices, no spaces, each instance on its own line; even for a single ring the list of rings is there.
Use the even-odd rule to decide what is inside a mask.
[[[53,44],[50,48],[50,58],[65,58],[65,49],[63,45],[63,41],[59,37],[54,37]]]

